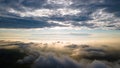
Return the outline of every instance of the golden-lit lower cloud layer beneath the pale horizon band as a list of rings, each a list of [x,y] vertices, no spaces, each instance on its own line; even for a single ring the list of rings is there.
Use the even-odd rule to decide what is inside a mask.
[[[9,51],[11,46],[17,46],[21,53],[26,53],[16,61],[21,67],[28,65],[31,68],[120,68],[120,46],[117,45],[93,46],[62,42],[38,44],[19,41],[0,43],[0,49],[7,48]]]

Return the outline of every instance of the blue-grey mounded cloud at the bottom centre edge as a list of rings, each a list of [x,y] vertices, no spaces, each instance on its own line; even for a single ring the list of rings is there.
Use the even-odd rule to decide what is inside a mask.
[[[81,68],[78,63],[68,57],[58,58],[54,55],[39,57],[33,64],[32,68]]]

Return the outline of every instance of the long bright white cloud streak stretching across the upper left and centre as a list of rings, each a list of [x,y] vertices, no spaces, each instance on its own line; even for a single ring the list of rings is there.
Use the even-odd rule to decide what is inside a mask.
[[[21,17],[50,17],[53,15],[57,15],[57,16],[77,15],[81,11],[78,9],[74,10],[70,8],[60,8],[60,9],[36,9],[25,12],[10,9],[9,12],[18,14]]]

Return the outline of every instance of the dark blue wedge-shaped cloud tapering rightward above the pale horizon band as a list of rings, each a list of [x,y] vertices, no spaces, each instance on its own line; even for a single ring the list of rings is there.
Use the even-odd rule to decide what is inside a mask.
[[[19,19],[10,17],[0,17],[0,28],[44,28],[53,26],[63,26],[57,23],[47,23],[30,19]]]

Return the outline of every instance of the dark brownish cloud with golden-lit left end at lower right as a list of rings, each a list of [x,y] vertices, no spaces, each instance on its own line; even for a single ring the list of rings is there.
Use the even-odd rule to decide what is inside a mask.
[[[73,54],[71,56],[79,59],[81,59],[82,57],[90,60],[96,59],[96,60],[105,60],[105,61],[114,62],[119,60],[120,58],[120,54],[118,54],[117,51],[119,51],[119,49],[116,49],[116,47],[112,47],[111,49],[111,47],[109,46],[91,47],[90,45],[89,46],[74,45]]]

